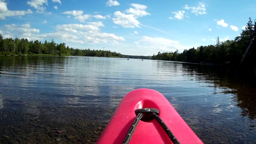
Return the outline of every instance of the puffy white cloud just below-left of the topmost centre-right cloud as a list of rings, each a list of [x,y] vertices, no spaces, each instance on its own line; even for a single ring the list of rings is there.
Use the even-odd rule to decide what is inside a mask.
[[[132,14],[124,14],[120,11],[117,11],[114,12],[114,16],[116,18],[112,18],[112,20],[115,24],[121,25],[124,28],[140,28],[140,22],[136,18],[134,18],[134,15]]]

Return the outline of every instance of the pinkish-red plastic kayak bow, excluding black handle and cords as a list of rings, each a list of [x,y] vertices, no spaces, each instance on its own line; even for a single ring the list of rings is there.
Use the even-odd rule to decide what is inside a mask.
[[[136,118],[135,110],[140,108],[157,108],[158,116],[181,144],[203,144],[170,102],[160,92],[147,88],[132,90],[124,96],[96,144],[121,144]],[[130,144],[153,143],[172,144],[156,120],[140,120]]]

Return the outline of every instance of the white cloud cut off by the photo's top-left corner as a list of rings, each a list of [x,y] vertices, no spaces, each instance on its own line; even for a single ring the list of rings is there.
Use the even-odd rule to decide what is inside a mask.
[[[0,0],[0,20],[5,20],[8,16],[24,16],[25,14],[33,14],[32,10],[8,10],[7,3]]]

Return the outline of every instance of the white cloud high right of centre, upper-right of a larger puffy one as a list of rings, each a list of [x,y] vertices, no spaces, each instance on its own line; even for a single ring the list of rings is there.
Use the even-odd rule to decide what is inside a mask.
[[[146,8],[147,6],[142,5],[142,4],[131,4],[132,7],[134,8],[129,8],[128,10],[126,10],[125,12],[128,14],[132,14],[135,17],[141,17],[141,16],[146,16],[146,15],[150,15],[150,13],[146,12]]]

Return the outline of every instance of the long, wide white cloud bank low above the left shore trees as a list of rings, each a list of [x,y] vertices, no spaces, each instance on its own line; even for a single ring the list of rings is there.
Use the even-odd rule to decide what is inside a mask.
[[[40,30],[36,28],[31,28],[30,24],[23,24],[17,26],[15,24],[5,25],[5,31],[3,36],[14,38],[13,34],[8,32],[16,33],[15,36],[20,38],[27,38],[28,40],[45,40],[52,38],[60,38],[62,42],[74,42],[74,43],[110,43],[118,44],[120,41],[125,41],[121,36],[116,36],[112,33],[100,32],[100,28],[97,26],[102,26],[102,22],[89,22],[87,25],[83,24],[63,24],[57,25],[56,31],[52,33],[40,34]]]

